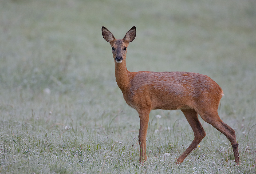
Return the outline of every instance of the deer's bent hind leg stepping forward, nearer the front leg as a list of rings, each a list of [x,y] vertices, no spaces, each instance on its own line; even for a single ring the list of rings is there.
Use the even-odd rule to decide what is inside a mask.
[[[194,140],[186,149],[186,151],[183,152],[182,155],[180,155],[180,157],[177,159],[177,164],[182,163],[182,161],[188,156],[190,152],[192,152],[193,149],[197,147],[197,145],[202,141],[202,139],[206,135],[206,133],[204,132],[203,126],[198,120],[198,114],[195,110],[190,109],[190,110],[181,110],[181,111],[184,113],[188,123],[190,124],[194,132]]]

